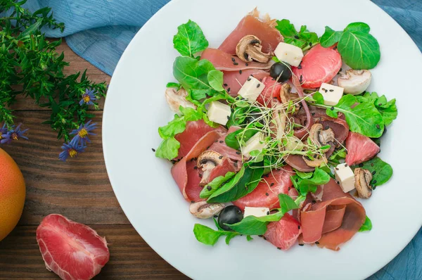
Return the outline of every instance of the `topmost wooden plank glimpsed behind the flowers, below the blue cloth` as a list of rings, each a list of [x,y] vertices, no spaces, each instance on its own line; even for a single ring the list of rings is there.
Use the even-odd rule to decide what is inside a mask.
[[[51,39],[51,41],[53,40],[55,39]],[[65,70],[63,71],[65,74],[71,75],[75,74],[75,72],[83,72],[85,69],[87,69],[87,75],[92,81],[97,83],[106,82],[107,84],[110,84],[111,77],[96,68],[94,65],[91,65],[91,63],[89,63],[88,61],[85,61],[84,59],[77,56],[77,54],[69,48],[68,44],[66,44],[64,38],[63,43],[57,47],[58,53],[61,53],[62,51],[65,53],[65,61],[70,63],[70,65],[65,67]],[[98,105],[100,106],[100,108],[103,108],[104,101],[98,102]],[[13,104],[13,106],[11,106],[11,109],[42,110],[42,108],[34,104],[34,101],[31,98],[24,98],[23,96],[17,97],[17,102]]]

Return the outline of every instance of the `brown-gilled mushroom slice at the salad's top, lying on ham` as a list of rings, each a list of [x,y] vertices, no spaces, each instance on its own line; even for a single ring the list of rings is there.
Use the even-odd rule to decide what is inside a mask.
[[[254,35],[246,35],[236,46],[236,55],[242,61],[257,61],[260,63],[268,63],[272,58],[271,53],[263,53],[261,40]]]

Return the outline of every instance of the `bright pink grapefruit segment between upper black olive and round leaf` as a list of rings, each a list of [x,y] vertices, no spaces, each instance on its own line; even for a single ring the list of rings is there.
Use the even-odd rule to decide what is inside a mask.
[[[324,48],[317,44],[302,58],[299,67],[292,67],[303,89],[316,89],[323,82],[329,83],[341,68],[341,56],[337,45]]]

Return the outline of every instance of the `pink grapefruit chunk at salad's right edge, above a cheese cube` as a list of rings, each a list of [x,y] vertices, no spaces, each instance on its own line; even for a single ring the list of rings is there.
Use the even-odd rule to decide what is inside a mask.
[[[356,132],[350,132],[346,139],[346,163],[357,165],[370,160],[380,152],[380,147],[369,137]]]

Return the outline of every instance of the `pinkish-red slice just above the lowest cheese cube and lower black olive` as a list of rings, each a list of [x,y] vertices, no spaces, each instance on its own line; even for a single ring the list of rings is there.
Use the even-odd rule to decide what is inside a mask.
[[[293,170],[290,166],[285,166],[280,170],[273,170],[262,177],[261,182],[256,189],[247,196],[234,201],[233,204],[245,209],[249,207],[267,207],[269,209],[280,208],[279,194],[288,194],[290,188],[293,187],[290,181],[290,176],[293,175]]]

